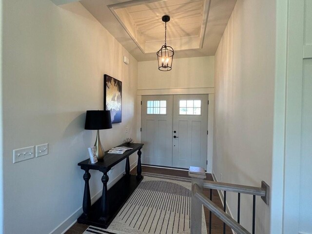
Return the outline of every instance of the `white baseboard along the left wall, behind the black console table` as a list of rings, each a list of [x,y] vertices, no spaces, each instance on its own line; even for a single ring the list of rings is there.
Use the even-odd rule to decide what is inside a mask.
[[[130,165],[130,171],[137,166],[137,161]],[[125,173],[123,171],[118,176],[116,176],[108,185],[107,189],[110,189]],[[102,190],[98,191],[93,197],[91,197],[91,204],[95,203],[98,198],[102,195]],[[73,226],[76,222],[78,217],[82,214],[82,206],[78,208],[72,215],[66,218],[63,222],[59,224],[50,234],[64,234],[71,226]]]

